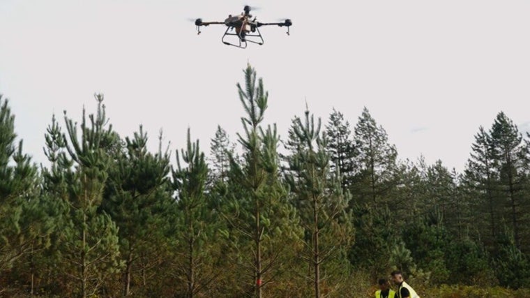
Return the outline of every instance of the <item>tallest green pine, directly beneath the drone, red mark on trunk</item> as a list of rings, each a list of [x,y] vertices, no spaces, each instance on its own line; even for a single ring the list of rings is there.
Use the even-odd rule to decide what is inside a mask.
[[[287,191],[279,179],[278,135],[275,126],[261,126],[268,93],[255,70],[244,70],[245,87],[237,84],[246,112],[245,133],[238,134],[243,146],[242,163],[230,158],[231,191],[224,217],[229,223],[226,237],[240,253],[237,262],[252,276],[252,292],[262,297],[263,288],[282,270],[282,255],[289,239],[296,238],[294,211],[287,204]],[[275,273],[273,273],[275,272]]]

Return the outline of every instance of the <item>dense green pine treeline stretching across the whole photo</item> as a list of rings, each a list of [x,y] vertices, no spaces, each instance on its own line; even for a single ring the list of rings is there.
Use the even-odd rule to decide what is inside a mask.
[[[281,140],[244,73],[237,142],[218,126],[207,158],[188,130],[176,162],[96,95],[79,122],[52,117],[38,168],[0,98],[0,295],[364,297],[392,269],[422,297],[530,288],[530,135],[506,114],[459,173],[400,161],[366,108],[354,126],[303,111]]]

